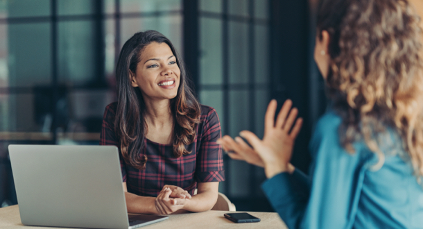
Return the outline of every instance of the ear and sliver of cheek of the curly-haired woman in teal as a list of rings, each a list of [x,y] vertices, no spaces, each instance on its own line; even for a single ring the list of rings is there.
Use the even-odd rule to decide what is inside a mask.
[[[325,79],[327,78],[330,62],[328,46],[329,33],[327,33],[327,31],[322,31],[322,39],[320,39],[319,35],[316,36],[316,45],[314,46],[314,60],[316,60],[319,71]]]

